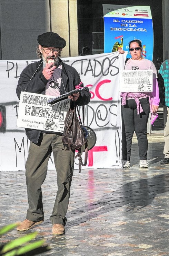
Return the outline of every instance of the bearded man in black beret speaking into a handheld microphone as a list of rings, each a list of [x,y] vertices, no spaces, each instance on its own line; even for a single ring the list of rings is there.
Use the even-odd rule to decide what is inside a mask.
[[[38,56],[40,61],[31,63],[21,73],[17,96],[20,92],[33,92],[59,96],[72,91],[81,82],[78,72],[59,58],[66,41],[53,32],[38,36]],[[83,106],[90,102],[88,88],[73,94],[77,105]],[[73,100],[73,96],[68,96]],[[63,150],[62,133],[25,129],[30,140],[29,155],[26,162],[26,184],[28,204],[26,220],[21,222],[17,230],[31,229],[44,221],[41,185],[47,175],[47,164],[53,152],[54,164],[57,171],[58,191],[54,202],[50,221],[53,225],[52,234],[64,234],[65,217],[70,197],[70,185],[74,168],[74,152]],[[51,180],[56,183],[56,181]]]

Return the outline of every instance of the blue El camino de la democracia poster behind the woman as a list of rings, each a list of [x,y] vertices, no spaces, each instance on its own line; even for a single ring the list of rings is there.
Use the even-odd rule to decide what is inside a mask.
[[[128,52],[127,58],[131,58],[129,42],[140,39],[142,57],[152,61],[153,25],[149,6],[131,6],[109,12],[104,16],[104,27],[104,53],[122,48]]]

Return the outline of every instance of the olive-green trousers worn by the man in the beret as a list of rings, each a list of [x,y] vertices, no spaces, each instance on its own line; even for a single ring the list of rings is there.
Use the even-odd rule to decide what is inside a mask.
[[[53,152],[54,165],[57,171],[58,191],[50,216],[52,224],[66,224],[66,212],[69,204],[70,185],[74,168],[74,152],[63,150],[61,136],[42,134],[40,145],[30,142],[26,162],[26,183],[29,209],[27,219],[40,221],[44,219],[41,186],[47,175],[47,165]],[[55,180],[51,180],[51,183]],[[52,203],[52,202],[51,202]]]

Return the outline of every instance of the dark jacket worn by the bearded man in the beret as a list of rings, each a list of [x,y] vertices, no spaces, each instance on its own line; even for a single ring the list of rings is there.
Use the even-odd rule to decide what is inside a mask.
[[[61,75],[62,79],[61,79],[60,89],[61,89],[61,94],[64,94],[65,93],[64,88],[66,92],[74,90],[75,86],[79,85],[79,83],[81,82],[81,79],[76,69],[74,69],[73,67],[71,67],[66,63],[63,63],[61,59],[59,59],[59,61],[62,64],[62,75]],[[43,76],[43,73],[42,73],[43,63],[41,62],[42,60],[29,64],[25,69],[23,69],[22,73],[20,74],[20,78],[18,81],[17,89],[16,89],[17,96],[19,99],[20,99],[21,91],[45,94],[45,89],[46,89],[45,87],[49,80],[47,80]],[[34,74],[35,71],[36,73]],[[78,106],[87,105],[90,102],[90,97],[91,97],[91,94],[89,92],[89,89],[86,87],[86,90],[83,90],[80,92],[80,96],[77,99],[76,104]],[[41,131],[27,129],[27,128],[25,128],[25,130],[26,130],[26,135],[28,139],[33,143],[38,143]],[[62,135],[61,133],[56,133],[56,134]]]

